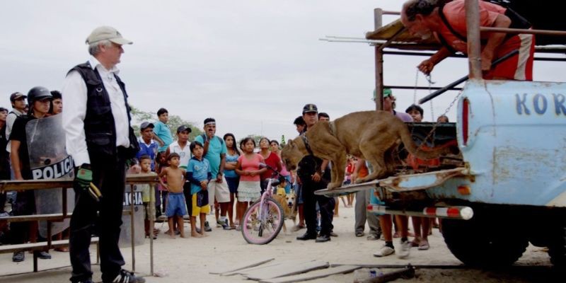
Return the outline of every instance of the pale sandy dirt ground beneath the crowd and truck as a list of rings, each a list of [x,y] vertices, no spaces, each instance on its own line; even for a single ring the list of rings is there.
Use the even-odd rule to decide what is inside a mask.
[[[214,223],[214,215],[209,215],[210,223]],[[417,269],[417,277],[413,279],[398,279],[397,282],[564,282],[555,279],[550,269],[548,254],[541,248],[529,246],[523,257],[516,264],[499,271],[473,270],[463,267],[449,252],[444,240],[437,229],[429,237],[431,248],[417,250],[413,248],[410,256],[401,260],[395,255],[386,258],[375,258],[372,253],[378,250],[383,241],[367,241],[366,237],[354,236],[354,209],[340,204],[340,216],[335,217],[334,231],[338,237],[327,243],[314,241],[296,241],[295,237],[304,230],[283,232],[265,246],[254,246],[246,243],[241,233],[235,230],[224,231],[214,229],[207,238],[168,238],[160,233],[154,241],[154,272],[159,277],[151,277],[149,265],[149,239],[142,246],[135,248],[135,270],[146,276],[146,282],[250,282],[241,275],[219,276],[209,272],[228,270],[246,262],[254,262],[267,258],[275,258],[277,262],[291,260],[325,260],[330,264],[365,264],[365,265],[450,265],[449,269]],[[287,221],[289,228],[291,221]],[[156,223],[156,228],[166,231],[167,224]],[[188,224],[185,231],[189,232]],[[187,233],[188,235],[189,233]],[[512,235],[510,235],[512,236]],[[399,239],[394,241],[399,247]],[[91,258],[96,260],[96,249],[91,247]],[[123,248],[126,269],[132,269],[132,249]],[[481,253],[481,250],[478,250]],[[39,260],[40,272],[33,273],[33,257],[26,254],[24,262],[11,262],[11,254],[0,255],[0,282],[39,283],[39,282],[68,282],[71,268],[69,254],[52,251],[51,260]],[[94,279],[100,281],[100,268],[93,267]],[[388,269],[383,272],[393,271]],[[28,273],[23,273],[28,272]],[[20,274],[22,273],[22,274]],[[17,275],[13,275],[17,274]],[[562,277],[564,278],[564,277]],[[354,274],[333,275],[312,280],[311,282],[353,282]],[[563,280],[563,279],[562,279]]]

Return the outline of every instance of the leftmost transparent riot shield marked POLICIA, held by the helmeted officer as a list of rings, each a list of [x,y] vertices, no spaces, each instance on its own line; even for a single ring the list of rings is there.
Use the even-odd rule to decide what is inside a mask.
[[[28,151],[33,180],[73,177],[74,167],[71,156],[65,150],[65,132],[62,115],[31,120],[25,125],[28,136]],[[35,209],[37,214],[62,213],[61,189],[35,190]],[[67,190],[67,212],[74,209],[74,191]],[[53,222],[52,234],[69,227],[70,219]],[[47,237],[47,221],[40,221],[40,235]]]

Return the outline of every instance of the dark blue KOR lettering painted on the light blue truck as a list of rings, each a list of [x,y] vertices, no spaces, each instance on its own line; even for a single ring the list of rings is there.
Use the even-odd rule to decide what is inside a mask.
[[[552,102],[549,102],[552,100]],[[519,115],[531,115],[531,110],[538,115],[545,114],[548,109],[554,110],[556,115],[566,115],[566,96],[562,93],[553,93],[552,98],[547,98],[541,93],[529,95],[523,93],[515,94],[516,111]],[[550,103],[553,103],[554,108]]]

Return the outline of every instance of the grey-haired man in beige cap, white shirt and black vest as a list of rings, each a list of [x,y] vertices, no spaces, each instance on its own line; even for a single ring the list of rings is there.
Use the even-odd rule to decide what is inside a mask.
[[[88,35],[86,43],[91,58],[69,71],[62,89],[67,151],[78,167],[69,238],[71,282],[92,282],[88,247],[95,227],[103,282],[145,282],[122,270],[125,262],[118,248],[126,161],[139,151],[139,144],[130,126],[126,88],[116,65],[124,53],[122,45],[132,42],[115,28],[101,26]],[[101,196],[91,184],[100,189]]]

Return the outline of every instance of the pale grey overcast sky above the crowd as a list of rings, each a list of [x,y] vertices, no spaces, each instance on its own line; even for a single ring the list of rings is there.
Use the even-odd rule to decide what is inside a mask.
[[[67,71],[88,59],[84,41],[99,25],[111,25],[134,42],[125,46],[120,76],[129,102],[202,127],[216,118],[217,134],[237,139],[262,134],[296,137],[292,122],[306,103],[331,119],[373,110],[374,48],[364,43],[320,41],[326,35],[364,37],[373,30],[374,8],[399,11],[386,1],[7,1],[0,9],[0,105],[14,91],[33,86],[60,90]],[[384,23],[395,16],[385,16]],[[385,83],[415,86],[425,57],[388,55]],[[555,81],[563,69],[536,62],[535,79]],[[465,59],[448,59],[433,72],[436,86],[467,74]],[[419,85],[427,86],[422,74]],[[394,91],[397,110],[414,91]],[[417,99],[428,91],[417,93]],[[422,105],[435,120],[456,93]],[[454,107],[455,108],[455,107]],[[454,109],[449,112],[454,120]]]

